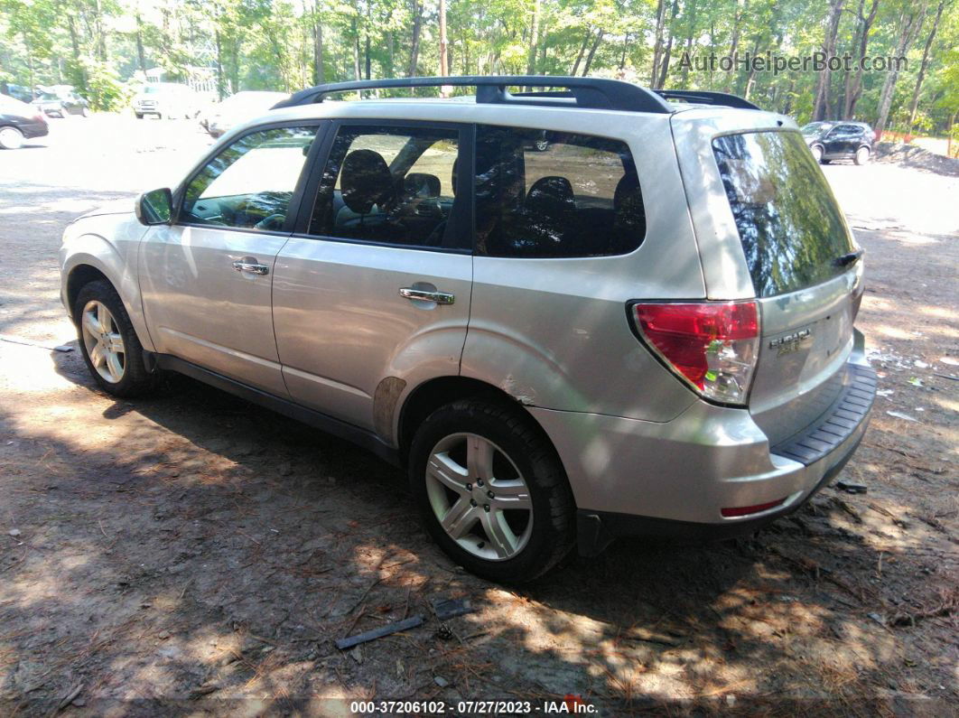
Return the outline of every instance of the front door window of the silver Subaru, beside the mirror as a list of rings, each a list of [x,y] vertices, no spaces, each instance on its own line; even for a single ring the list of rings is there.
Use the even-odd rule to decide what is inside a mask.
[[[282,230],[315,134],[316,127],[277,127],[241,137],[187,186],[179,220]]]

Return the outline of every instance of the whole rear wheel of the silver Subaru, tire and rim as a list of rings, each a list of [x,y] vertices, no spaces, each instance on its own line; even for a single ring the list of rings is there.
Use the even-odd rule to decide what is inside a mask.
[[[436,409],[413,438],[409,479],[433,540],[479,576],[529,581],[573,547],[563,467],[512,407],[472,399]]]

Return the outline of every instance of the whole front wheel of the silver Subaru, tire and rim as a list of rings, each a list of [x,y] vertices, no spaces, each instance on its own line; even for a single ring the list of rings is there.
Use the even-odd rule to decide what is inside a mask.
[[[147,371],[143,346],[116,290],[105,281],[90,282],[73,310],[86,368],[108,394],[142,396],[158,376]]]

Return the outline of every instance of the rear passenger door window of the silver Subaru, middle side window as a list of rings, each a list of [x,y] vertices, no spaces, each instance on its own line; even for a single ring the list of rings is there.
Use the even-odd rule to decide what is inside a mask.
[[[455,129],[340,126],[310,234],[443,246],[456,197],[458,139]]]

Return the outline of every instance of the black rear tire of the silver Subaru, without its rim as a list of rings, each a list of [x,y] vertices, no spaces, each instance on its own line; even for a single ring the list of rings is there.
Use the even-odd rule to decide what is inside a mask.
[[[443,529],[430,502],[427,464],[445,437],[478,434],[492,442],[523,476],[532,502],[526,545],[511,557],[486,560],[456,543]],[[433,541],[457,564],[491,581],[531,581],[559,563],[575,544],[575,503],[566,472],[550,442],[515,407],[483,398],[441,406],[417,428],[409,449],[409,482]]]

